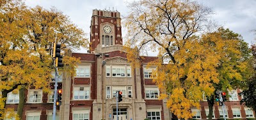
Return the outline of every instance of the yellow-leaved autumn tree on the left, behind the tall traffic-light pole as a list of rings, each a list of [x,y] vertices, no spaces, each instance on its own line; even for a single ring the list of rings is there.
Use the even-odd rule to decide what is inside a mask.
[[[70,57],[68,50],[86,47],[88,41],[83,30],[55,8],[28,8],[21,0],[10,0],[0,2],[0,11],[0,119],[4,119],[8,110],[6,97],[11,91],[20,90],[19,116],[24,105],[24,89],[35,86],[49,91],[54,70],[51,58],[54,30],[60,31],[57,41],[65,51],[63,70],[70,75],[74,74],[74,63],[79,60]]]

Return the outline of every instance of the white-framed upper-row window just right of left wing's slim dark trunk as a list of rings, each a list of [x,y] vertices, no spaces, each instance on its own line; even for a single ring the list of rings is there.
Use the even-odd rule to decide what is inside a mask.
[[[37,92],[37,94],[35,94],[35,92]],[[33,96],[35,95],[40,95],[40,97],[38,98],[33,98]],[[29,90],[29,94],[28,94],[28,103],[42,103],[42,98],[43,98],[43,91],[42,90]],[[33,99],[33,100],[31,100]],[[40,102],[35,102],[37,100],[40,100]]]

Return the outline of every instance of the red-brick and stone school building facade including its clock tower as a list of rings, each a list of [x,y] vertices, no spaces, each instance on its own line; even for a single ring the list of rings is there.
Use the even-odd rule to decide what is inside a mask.
[[[122,41],[122,26],[118,11],[93,10],[90,26],[90,51],[71,53],[80,58],[76,75],[67,76],[60,72],[58,89],[63,91],[62,105],[57,107],[57,119],[61,120],[170,120],[176,119],[166,107],[166,100],[158,100],[159,90],[152,81],[152,70],[147,63],[156,57],[138,58],[141,67],[132,69]],[[54,72],[52,73],[54,75]],[[53,84],[53,83],[52,83]],[[52,119],[53,90],[49,94],[42,90],[26,90],[24,116],[22,119]],[[122,91],[122,102],[116,112],[116,91]],[[250,108],[240,105],[239,90],[230,91],[225,102],[228,119],[254,117]],[[17,97],[18,95],[18,97]],[[8,93],[7,108],[17,110],[19,94]],[[195,119],[207,119],[207,101],[201,102],[200,109],[191,108]],[[218,119],[222,109],[214,105],[212,117]]]

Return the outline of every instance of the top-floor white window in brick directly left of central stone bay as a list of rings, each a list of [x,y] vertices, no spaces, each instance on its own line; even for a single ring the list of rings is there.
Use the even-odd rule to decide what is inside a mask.
[[[77,77],[90,77],[90,65],[78,65],[76,68]]]

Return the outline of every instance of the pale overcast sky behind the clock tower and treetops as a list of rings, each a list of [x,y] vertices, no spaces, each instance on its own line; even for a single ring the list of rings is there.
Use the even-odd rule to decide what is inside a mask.
[[[118,10],[121,16],[128,14],[127,1],[133,0],[25,0],[26,5],[43,6],[46,9],[54,6],[68,15],[70,20],[86,34],[90,33],[92,10]],[[214,10],[212,18],[219,25],[241,34],[244,41],[255,42],[256,29],[256,0],[197,0]],[[124,27],[124,25],[123,25]],[[122,34],[125,36],[125,32]]]

